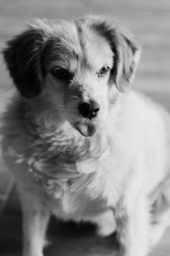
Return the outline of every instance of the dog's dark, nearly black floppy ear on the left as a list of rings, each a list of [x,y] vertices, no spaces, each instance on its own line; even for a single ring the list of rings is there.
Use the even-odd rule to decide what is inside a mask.
[[[43,31],[30,26],[7,45],[3,50],[4,59],[17,89],[26,98],[36,97],[42,90],[43,81],[40,63]]]

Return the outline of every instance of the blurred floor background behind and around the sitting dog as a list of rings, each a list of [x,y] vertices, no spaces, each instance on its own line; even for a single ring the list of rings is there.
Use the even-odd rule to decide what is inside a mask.
[[[0,0],[0,51],[32,18],[75,20],[89,13],[117,18],[136,35],[143,52],[133,88],[149,94],[170,110],[170,0]],[[1,55],[0,112],[14,92]],[[0,164],[0,250],[3,256],[20,254],[20,213],[15,184],[5,166]],[[55,251],[65,256],[111,255],[112,238],[94,238],[91,227],[86,226],[83,233],[81,226],[69,225],[66,233],[60,234],[64,240],[55,238],[55,241],[60,240],[57,251],[53,246],[47,254]],[[80,246],[76,247],[75,239],[69,238],[65,247],[66,234],[73,236],[69,230],[78,235]],[[169,256],[169,244],[170,232],[163,237],[154,255]]]

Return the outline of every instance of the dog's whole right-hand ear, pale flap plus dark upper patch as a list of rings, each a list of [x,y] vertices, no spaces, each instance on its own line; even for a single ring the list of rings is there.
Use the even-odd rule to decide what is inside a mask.
[[[127,31],[122,31],[115,23],[100,20],[92,20],[90,28],[96,33],[106,38],[114,53],[114,67],[111,74],[114,83],[119,91],[123,92],[127,86],[130,86],[138,59],[136,53],[140,52],[135,38]],[[138,53],[139,54],[139,53]]]

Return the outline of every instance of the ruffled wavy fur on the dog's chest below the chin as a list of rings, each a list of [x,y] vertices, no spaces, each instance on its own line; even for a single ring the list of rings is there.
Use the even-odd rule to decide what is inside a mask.
[[[27,166],[30,179],[43,186],[61,217],[100,213],[118,195],[111,163],[107,166],[100,160],[107,146],[100,138],[90,145],[73,135],[23,134],[8,150],[17,165]]]

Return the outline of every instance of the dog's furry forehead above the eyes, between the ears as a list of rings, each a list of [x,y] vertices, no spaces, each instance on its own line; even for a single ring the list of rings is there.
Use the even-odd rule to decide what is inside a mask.
[[[65,22],[57,24],[53,30],[46,45],[48,62],[70,68],[83,62],[83,66],[95,70],[106,64],[112,66],[113,52],[109,43],[90,26]]]

